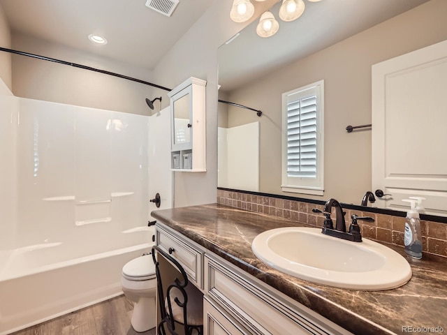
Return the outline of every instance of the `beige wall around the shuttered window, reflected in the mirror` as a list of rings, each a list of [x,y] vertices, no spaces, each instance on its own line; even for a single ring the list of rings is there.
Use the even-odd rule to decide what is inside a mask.
[[[345,128],[371,123],[371,66],[447,39],[446,15],[447,1],[432,0],[230,92],[230,101],[263,111],[258,118],[229,108],[228,121],[261,121],[261,192],[360,204],[371,188],[371,131]],[[325,194],[282,193],[281,94],[318,80],[325,80]]]

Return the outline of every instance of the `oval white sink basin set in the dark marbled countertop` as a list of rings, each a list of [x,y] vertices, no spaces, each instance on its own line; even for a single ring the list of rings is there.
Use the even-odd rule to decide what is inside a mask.
[[[255,237],[251,248],[274,269],[314,283],[355,290],[404,285],[411,267],[399,253],[369,239],[345,241],[321,228],[277,228]]]

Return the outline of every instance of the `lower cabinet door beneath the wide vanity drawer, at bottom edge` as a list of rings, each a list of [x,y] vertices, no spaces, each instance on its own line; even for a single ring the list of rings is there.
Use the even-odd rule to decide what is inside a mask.
[[[203,299],[203,333],[205,335],[249,335],[238,322],[205,297]]]

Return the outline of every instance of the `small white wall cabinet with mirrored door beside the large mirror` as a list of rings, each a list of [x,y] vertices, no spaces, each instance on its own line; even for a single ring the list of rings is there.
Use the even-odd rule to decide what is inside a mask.
[[[168,93],[171,111],[171,169],[206,171],[206,81],[190,77]]]

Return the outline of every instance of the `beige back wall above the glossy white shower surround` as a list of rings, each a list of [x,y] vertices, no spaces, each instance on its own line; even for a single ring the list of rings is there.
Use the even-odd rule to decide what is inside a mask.
[[[145,68],[134,68],[129,64],[22,34],[13,34],[12,40],[15,50],[152,82],[152,72]],[[145,98],[152,98],[152,87],[103,73],[14,54],[13,93],[15,96],[42,101],[148,114]]]

